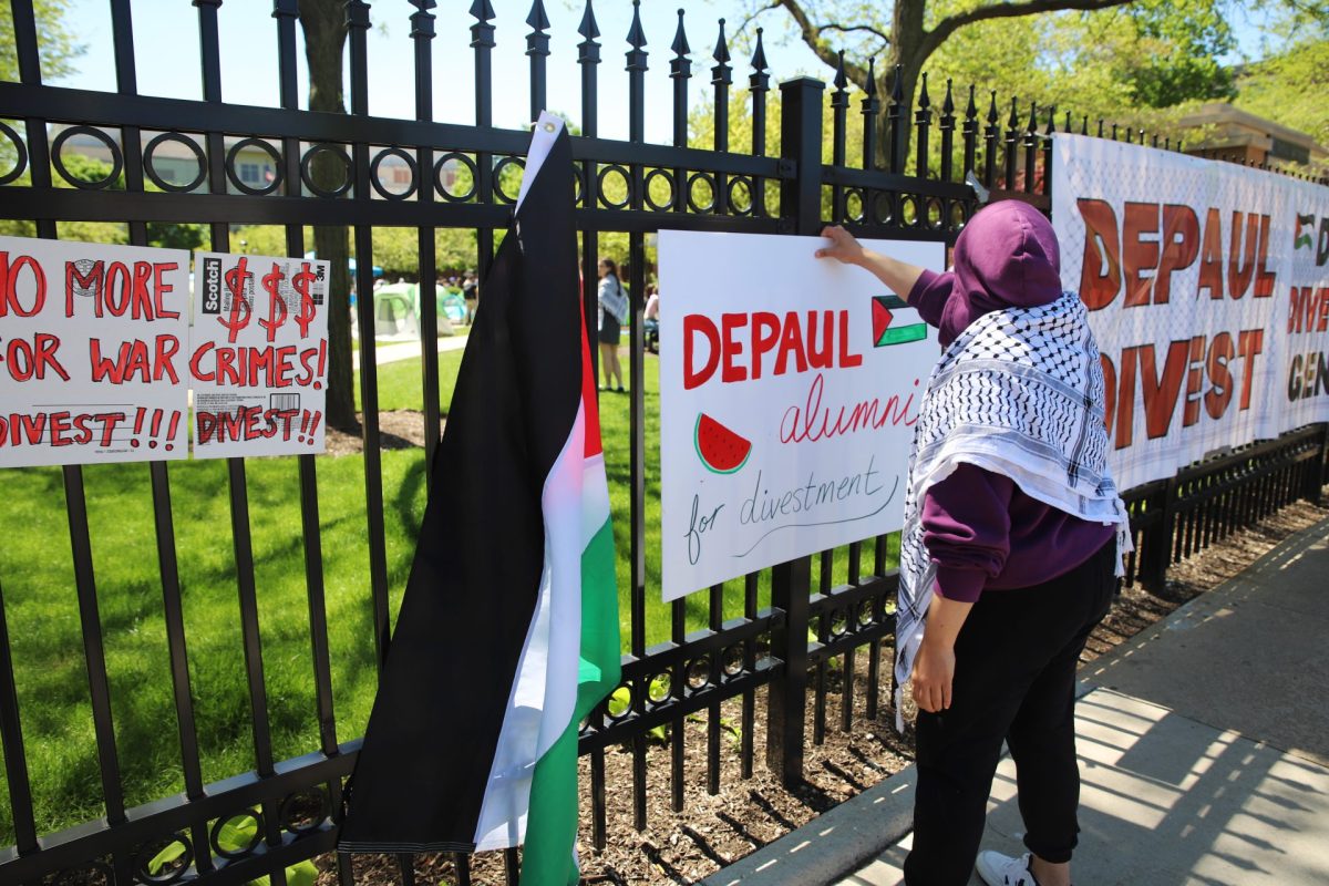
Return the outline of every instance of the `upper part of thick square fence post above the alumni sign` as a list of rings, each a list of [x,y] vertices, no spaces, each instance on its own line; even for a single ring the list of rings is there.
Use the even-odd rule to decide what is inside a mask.
[[[780,182],[781,230],[821,232],[821,93],[825,84],[799,77],[780,84],[780,155],[793,178]]]

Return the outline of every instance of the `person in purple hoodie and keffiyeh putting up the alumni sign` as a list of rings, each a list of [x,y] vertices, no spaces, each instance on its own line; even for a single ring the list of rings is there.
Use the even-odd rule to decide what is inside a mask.
[[[1106,465],[1103,376],[1051,224],[1017,201],[977,213],[954,267],[924,270],[828,227],[937,327],[901,537],[896,683],[918,707],[910,886],[1067,886],[1079,832],[1075,667],[1130,547]],[[901,705],[897,689],[897,723]],[[1007,743],[1029,851],[978,854]]]

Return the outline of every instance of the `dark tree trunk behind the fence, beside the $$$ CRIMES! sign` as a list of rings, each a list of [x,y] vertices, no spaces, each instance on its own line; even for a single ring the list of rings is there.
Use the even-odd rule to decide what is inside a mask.
[[[346,45],[346,5],[331,0],[300,4],[304,29],[304,57],[310,65],[310,110],[344,114],[342,97],[342,48]],[[323,190],[338,190],[346,175],[342,161],[319,151],[310,169]],[[323,198],[318,198],[323,199]],[[331,264],[328,282],[328,395],[327,422],[340,430],[358,432],[355,389],[351,369],[351,240],[346,227],[314,227],[314,248]],[[372,299],[372,292],[360,298]],[[373,335],[373,329],[361,329]]]

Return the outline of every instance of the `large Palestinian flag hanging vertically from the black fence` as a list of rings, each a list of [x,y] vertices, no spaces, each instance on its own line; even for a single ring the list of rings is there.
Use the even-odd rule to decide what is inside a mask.
[[[577,731],[618,683],[619,638],[571,173],[562,121],[541,116],[435,454],[343,851],[525,843],[522,886],[577,882]]]

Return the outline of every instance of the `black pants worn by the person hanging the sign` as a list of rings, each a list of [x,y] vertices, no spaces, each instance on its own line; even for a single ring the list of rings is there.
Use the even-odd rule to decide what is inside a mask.
[[[956,639],[950,708],[918,712],[909,886],[969,882],[1002,740],[1015,760],[1025,845],[1070,861],[1079,833],[1075,667],[1112,603],[1115,555],[1112,539],[1059,578],[978,598]]]

